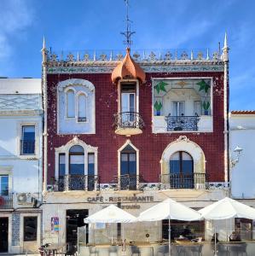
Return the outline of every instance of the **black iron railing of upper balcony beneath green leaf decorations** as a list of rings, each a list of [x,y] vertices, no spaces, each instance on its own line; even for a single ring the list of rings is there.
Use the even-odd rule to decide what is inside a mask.
[[[199,116],[171,116],[165,117],[167,131],[198,131]]]

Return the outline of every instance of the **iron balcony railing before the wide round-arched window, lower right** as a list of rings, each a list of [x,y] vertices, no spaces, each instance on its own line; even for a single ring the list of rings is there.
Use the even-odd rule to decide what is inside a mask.
[[[171,173],[160,175],[161,189],[208,189],[206,173]]]

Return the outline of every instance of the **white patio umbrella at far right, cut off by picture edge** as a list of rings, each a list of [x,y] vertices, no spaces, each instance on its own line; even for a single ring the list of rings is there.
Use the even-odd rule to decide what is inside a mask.
[[[255,209],[225,197],[199,211],[206,219],[250,218],[255,219]],[[214,227],[214,255],[217,255],[216,228]]]

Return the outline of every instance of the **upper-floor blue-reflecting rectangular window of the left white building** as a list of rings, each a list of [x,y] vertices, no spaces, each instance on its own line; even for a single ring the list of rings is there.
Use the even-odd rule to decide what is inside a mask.
[[[22,126],[20,154],[35,154],[35,126]]]

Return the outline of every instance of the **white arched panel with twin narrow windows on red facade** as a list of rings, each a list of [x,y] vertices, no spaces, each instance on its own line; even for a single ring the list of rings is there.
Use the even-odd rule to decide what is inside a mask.
[[[84,79],[58,85],[58,132],[95,133],[95,87]]]

